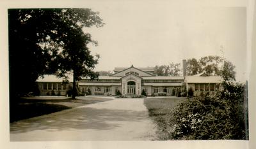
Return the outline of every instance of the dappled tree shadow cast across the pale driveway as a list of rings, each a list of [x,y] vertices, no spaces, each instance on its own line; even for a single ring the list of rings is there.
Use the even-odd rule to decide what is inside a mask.
[[[122,122],[143,122],[147,117],[148,113],[145,111],[75,108],[14,122],[10,124],[10,132],[14,134],[35,130],[110,130],[121,127]]]

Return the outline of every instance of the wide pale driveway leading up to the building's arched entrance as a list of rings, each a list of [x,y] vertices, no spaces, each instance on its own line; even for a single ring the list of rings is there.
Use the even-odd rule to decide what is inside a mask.
[[[14,122],[10,141],[152,140],[155,130],[143,99],[114,99]]]

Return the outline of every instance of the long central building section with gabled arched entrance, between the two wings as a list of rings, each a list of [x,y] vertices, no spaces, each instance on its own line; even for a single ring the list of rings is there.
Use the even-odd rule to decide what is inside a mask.
[[[99,76],[98,80],[83,79],[79,82],[81,91],[90,91],[92,95],[141,95],[144,90],[148,96],[181,87],[184,76],[156,76],[154,67],[116,67],[114,74]]]

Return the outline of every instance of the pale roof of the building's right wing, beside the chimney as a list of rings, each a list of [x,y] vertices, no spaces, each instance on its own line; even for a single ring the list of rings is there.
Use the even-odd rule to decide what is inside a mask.
[[[186,76],[186,83],[221,83],[221,76]]]

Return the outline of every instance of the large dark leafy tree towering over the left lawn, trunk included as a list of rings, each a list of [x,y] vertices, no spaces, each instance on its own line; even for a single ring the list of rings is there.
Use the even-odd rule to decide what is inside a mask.
[[[22,96],[35,88],[38,76],[68,72],[97,77],[97,59],[88,49],[96,43],[86,27],[102,27],[102,19],[90,9],[11,9],[9,20],[10,96]],[[99,56],[97,56],[99,58]],[[73,96],[74,97],[74,96]]]

